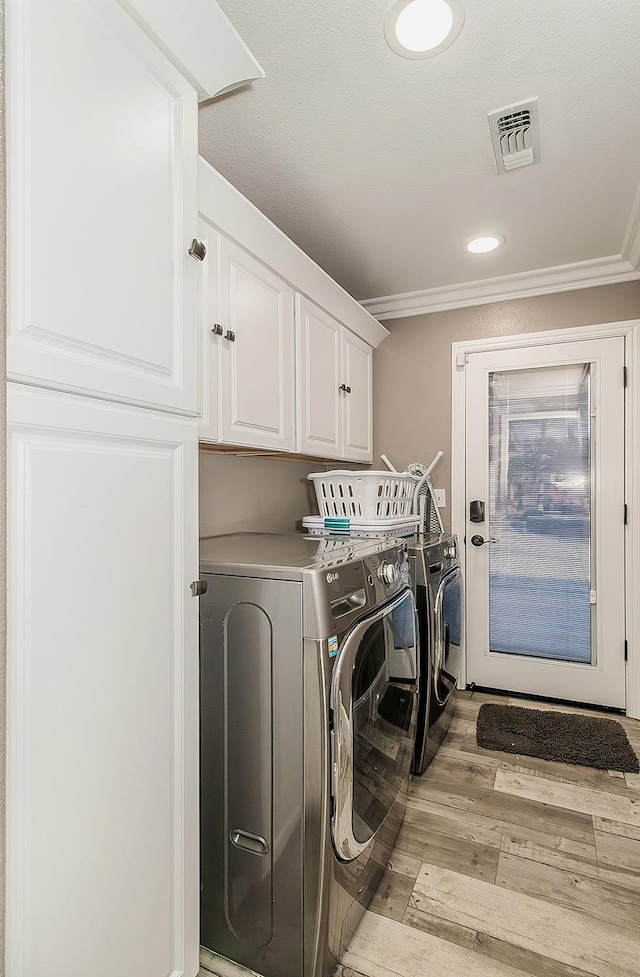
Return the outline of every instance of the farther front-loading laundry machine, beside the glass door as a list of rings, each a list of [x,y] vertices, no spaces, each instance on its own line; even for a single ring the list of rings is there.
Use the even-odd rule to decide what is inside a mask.
[[[462,571],[456,536],[409,544],[418,611],[420,674],[414,773],[435,756],[451,723],[462,655]]]

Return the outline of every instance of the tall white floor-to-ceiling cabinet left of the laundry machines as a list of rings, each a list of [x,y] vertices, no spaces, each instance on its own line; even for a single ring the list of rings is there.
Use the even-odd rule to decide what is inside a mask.
[[[251,71],[221,17],[6,3],[11,977],[198,971],[197,99],[205,54]]]

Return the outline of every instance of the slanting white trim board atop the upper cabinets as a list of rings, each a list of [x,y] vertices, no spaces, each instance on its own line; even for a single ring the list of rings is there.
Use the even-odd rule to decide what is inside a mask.
[[[374,349],[389,335],[348,292],[243,197],[217,170],[198,157],[198,210],[211,227],[232,238],[291,287],[343,323]]]

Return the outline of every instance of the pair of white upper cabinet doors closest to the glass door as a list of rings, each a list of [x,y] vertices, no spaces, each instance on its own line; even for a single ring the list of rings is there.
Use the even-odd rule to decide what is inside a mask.
[[[371,347],[303,295],[296,320],[298,450],[371,461]]]

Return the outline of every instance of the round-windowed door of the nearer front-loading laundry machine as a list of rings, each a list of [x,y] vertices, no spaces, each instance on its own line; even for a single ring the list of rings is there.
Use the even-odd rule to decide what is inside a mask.
[[[416,677],[415,603],[409,590],[347,634],[333,672],[333,843],[344,861],[362,852],[411,769],[416,682],[390,678],[398,651]]]

